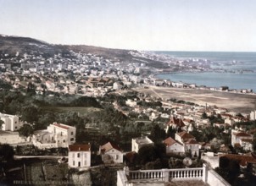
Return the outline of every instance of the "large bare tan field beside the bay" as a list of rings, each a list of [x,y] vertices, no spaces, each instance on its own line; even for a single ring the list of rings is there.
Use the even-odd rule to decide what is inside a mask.
[[[159,86],[149,86],[148,89],[138,87],[134,90],[161,97],[164,100],[173,98],[177,101],[190,101],[202,106],[207,103],[209,106],[224,107],[233,112],[249,113],[256,109],[256,95]]]

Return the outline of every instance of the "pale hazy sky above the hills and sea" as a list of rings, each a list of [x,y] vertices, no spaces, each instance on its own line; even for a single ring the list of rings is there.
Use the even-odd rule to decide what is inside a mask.
[[[137,50],[256,52],[256,1],[0,0],[0,34]]]

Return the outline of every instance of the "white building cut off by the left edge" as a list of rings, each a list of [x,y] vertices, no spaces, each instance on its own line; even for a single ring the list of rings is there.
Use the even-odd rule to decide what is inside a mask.
[[[19,117],[15,115],[0,113],[0,119],[3,121],[2,130],[15,131],[22,126],[22,123],[19,123]]]

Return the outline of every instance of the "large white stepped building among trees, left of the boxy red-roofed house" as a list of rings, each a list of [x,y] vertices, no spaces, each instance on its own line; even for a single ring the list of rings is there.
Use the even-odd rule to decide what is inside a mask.
[[[69,147],[75,143],[75,127],[62,123],[50,124],[46,130],[36,131],[32,142],[40,149]]]

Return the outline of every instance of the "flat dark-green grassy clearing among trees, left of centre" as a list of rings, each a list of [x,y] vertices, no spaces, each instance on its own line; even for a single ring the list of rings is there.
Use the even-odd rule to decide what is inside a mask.
[[[101,111],[97,107],[42,107],[45,112],[79,112],[81,115],[88,115]]]

